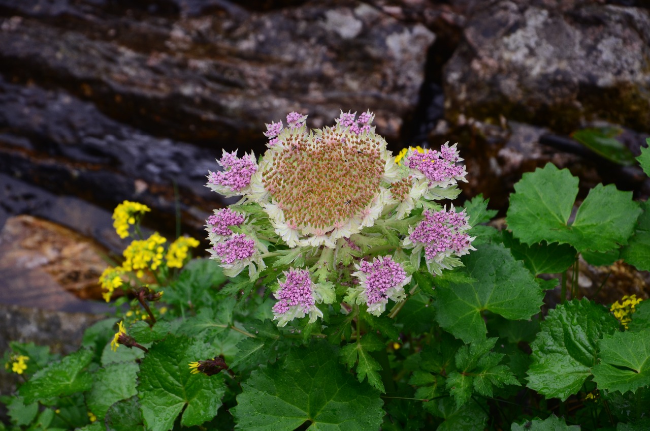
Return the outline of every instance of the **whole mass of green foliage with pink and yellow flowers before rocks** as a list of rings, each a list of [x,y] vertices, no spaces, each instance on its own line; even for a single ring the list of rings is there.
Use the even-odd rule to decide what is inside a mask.
[[[578,283],[580,262],[650,270],[649,202],[599,185],[578,205],[578,179],[549,164],[498,230],[480,196],[445,204],[465,180],[455,146],[393,158],[372,113],[306,119],[208,174],[241,196],[207,219],[209,258],[118,207],[136,238],[101,283],[131,307],[114,301],[62,358],[12,342],[9,429],[649,428],[647,292],[604,284],[605,307]],[[638,161],[650,173],[650,150]]]

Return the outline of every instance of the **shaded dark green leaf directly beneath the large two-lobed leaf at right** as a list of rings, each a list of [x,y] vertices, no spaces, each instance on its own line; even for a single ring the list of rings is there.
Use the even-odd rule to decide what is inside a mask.
[[[510,249],[512,256],[522,260],[534,275],[565,271],[573,265],[577,254],[569,244],[547,244],[545,241],[532,245],[522,244],[507,230],[503,232],[503,244]]]

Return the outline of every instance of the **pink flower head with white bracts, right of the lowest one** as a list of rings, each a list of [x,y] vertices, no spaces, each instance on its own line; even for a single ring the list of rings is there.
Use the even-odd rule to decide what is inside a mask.
[[[379,316],[385,311],[388,299],[398,302],[406,298],[404,286],[411,281],[411,276],[407,277],[391,256],[374,258],[372,263],[362,260],[355,266],[358,271],[352,275],[359,278],[363,288],[358,300],[365,301],[368,313]]]

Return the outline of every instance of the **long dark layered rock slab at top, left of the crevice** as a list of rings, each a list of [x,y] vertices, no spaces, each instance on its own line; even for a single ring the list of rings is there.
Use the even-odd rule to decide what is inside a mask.
[[[434,41],[419,23],[358,1],[194,3],[1,0],[0,72],[148,133],[230,149],[263,141],[263,123],[293,110],[320,127],[339,109],[370,108],[396,137],[417,104]]]

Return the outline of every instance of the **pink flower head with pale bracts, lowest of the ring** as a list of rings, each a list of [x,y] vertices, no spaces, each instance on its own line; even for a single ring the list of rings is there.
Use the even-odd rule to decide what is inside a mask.
[[[278,292],[274,296],[278,299],[273,306],[274,320],[278,319],[278,326],[285,326],[294,318],[302,318],[309,313],[309,322],[314,322],[317,316],[322,317],[322,312],[316,307],[313,283],[308,270],[291,269],[285,272],[287,279],[279,283]]]

